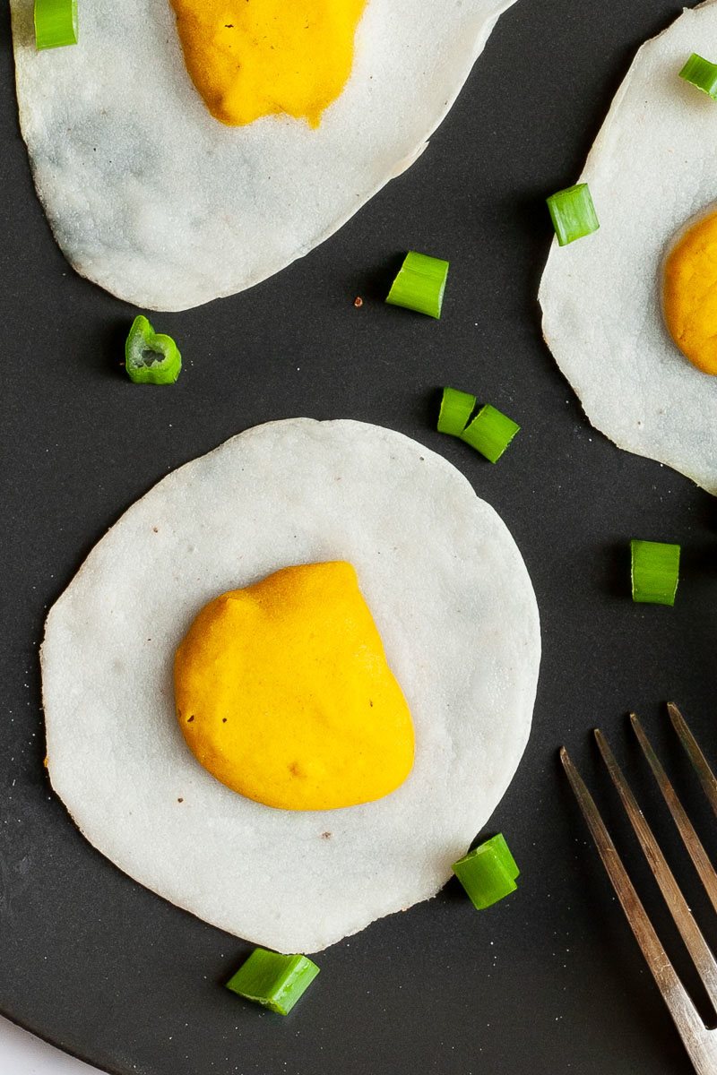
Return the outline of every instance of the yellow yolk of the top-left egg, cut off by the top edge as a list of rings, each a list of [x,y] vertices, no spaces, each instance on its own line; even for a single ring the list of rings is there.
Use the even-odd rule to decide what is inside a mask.
[[[223,124],[318,127],[350,74],[365,0],[171,0],[187,70]]]

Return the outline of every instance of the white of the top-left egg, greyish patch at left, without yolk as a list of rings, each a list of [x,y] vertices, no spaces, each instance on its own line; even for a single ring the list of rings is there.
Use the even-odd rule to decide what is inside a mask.
[[[296,94],[252,110],[299,118],[234,127],[197,91],[169,0],[83,0],[78,43],[41,53],[32,4],[11,0],[20,127],[57,242],[78,273],[143,310],[257,284],[413,163],[513,2],[368,0],[332,103],[309,91],[312,59]],[[191,38],[195,59],[183,33],[199,81],[206,37]],[[332,52],[345,54],[349,38],[344,27]]]

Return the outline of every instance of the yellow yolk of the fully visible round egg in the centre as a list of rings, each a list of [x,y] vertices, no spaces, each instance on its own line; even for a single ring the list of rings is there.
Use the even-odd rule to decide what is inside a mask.
[[[196,758],[284,809],[372,802],[411,772],[401,688],[349,563],[285,568],[199,613],[174,660]]]

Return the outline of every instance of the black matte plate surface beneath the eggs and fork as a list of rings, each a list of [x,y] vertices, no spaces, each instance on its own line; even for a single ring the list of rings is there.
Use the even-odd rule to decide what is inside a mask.
[[[428,152],[333,239],[244,295],[153,318],[188,359],[170,390],[125,379],[135,311],[76,276],[52,240],[0,16],[0,1009],[11,1018],[121,1075],[690,1072],[557,748],[567,743],[598,785],[636,861],[588,736],[596,723],[608,733],[716,942],[625,720],[642,714],[690,788],[660,704],[672,698],[717,760],[716,504],[589,427],[542,343],[535,302],[550,241],[542,199],[575,181],[637,45],[680,8],[520,0]],[[410,247],[450,259],[440,322],[381,302]],[[434,431],[444,383],[522,425],[497,467]],[[227,436],[291,415],[390,426],[459,467],[522,550],[544,660],[530,745],[486,828],[505,832],[518,892],[477,915],[449,884],[322,952],[311,994],[282,1019],[220,988],[248,945],[152,895],[74,829],[43,773],[37,651],[46,608],[137,497]],[[630,601],[632,536],[683,544],[674,610]],[[697,794],[688,802],[717,858],[714,818]]]

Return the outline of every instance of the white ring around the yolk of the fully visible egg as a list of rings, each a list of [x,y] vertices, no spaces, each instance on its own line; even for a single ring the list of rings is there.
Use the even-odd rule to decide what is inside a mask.
[[[331,561],[356,570],[414,764],[375,802],[277,809],[187,749],[174,654],[218,593]],[[51,610],[49,777],[87,840],[147,888],[266,947],[317,951],[451,875],[520,760],[540,649],[520,554],[446,460],[362,422],[272,422],[163,478]]]

